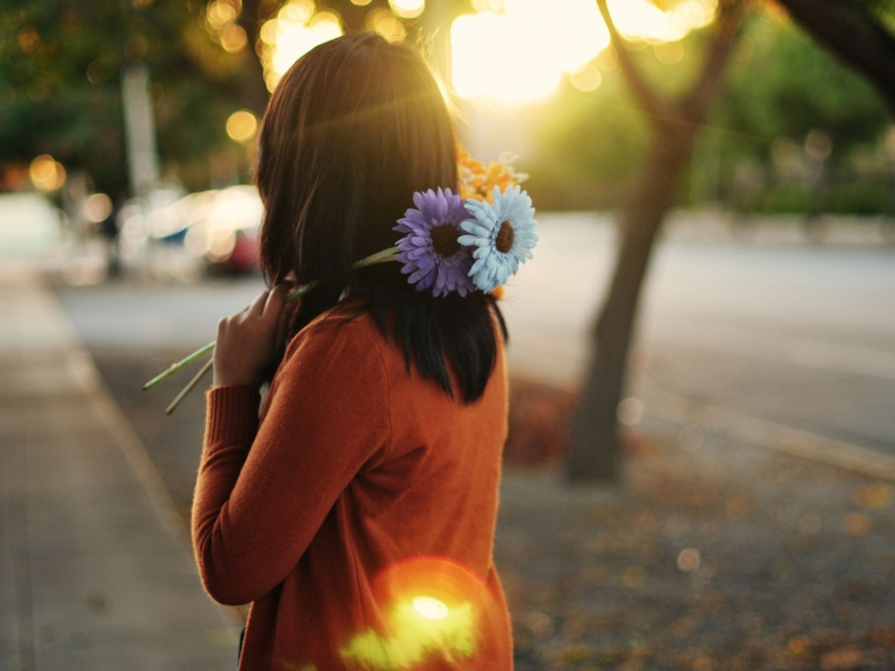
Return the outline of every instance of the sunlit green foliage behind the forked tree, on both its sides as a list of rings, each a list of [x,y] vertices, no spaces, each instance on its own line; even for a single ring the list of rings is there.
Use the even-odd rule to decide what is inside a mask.
[[[891,0],[866,0],[874,11],[890,11]],[[884,6],[885,5],[885,6]],[[705,53],[708,30],[681,43],[678,64],[661,63],[657,49],[641,45],[633,55],[645,77],[671,97],[690,89]],[[635,177],[648,140],[642,112],[630,98],[618,70],[603,70],[592,93],[571,86],[535,115],[536,142],[531,183],[543,208],[612,208],[621,204]],[[739,193],[736,176],[757,166],[761,182],[772,174],[774,140],[801,147],[813,131],[831,139],[828,166],[844,178],[829,187],[823,207],[831,211],[881,211],[884,184],[860,184],[850,158],[878,146],[891,121],[875,90],[840,64],[797,26],[763,13],[747,19],[729,64],[726,86],[703,133],[681,199],[696,204],[718,197],[734,207],[762,211],[804,211],[810,189],[804,184],[767,185],[767,192]],[[850,175],[850,180],[849,180]]]

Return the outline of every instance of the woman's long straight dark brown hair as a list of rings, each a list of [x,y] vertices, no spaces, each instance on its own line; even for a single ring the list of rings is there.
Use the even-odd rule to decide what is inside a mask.
[[[292,333],[345,298],[369,310],[379,330],[422,375],[465,403],[494,367],[492,314],[481,292],[416,292],[400,264],[352,269],[394,246],[392,231],[413,192],[456,191],[456,139],[439,86],[412,47],[379,35],[345,35],[303,55],[277,85],[260,134],[256,175],[265,216],[261,266],[268,284],[290,273],[320,286],[303,297]],[[493,312],[492,312],[493,310]]]

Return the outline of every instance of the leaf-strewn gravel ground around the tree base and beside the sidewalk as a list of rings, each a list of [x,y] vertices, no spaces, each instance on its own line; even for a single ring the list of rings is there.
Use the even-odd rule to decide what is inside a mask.
[[[201,395],[166,417],[179,386],[140,388],[183,352],[92,353],[188,515]],[[543,458],[567,396],[515,388],[527,467],[507,465],[495,556],[518,671],[895,669],[891,485],[647,418],[623,486],[569,488]]]

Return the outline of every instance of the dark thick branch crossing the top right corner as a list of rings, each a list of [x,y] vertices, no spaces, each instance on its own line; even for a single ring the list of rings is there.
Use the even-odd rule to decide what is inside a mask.
[[[777,0],[793,19],[879,91],[895,115],[895,37],[856,3]]]

